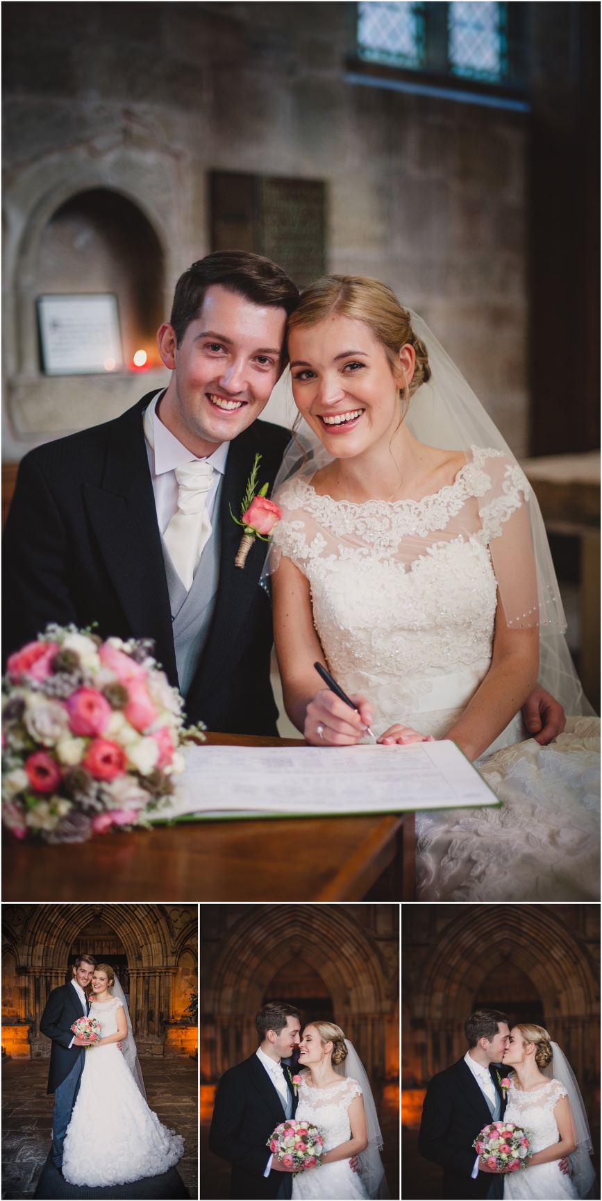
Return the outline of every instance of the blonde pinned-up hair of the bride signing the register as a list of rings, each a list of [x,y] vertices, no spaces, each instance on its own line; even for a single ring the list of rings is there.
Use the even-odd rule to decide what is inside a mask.
[[[366,275],[323,275],[310,283],[302,294],[297,309],[287,321],[287,335],[299,325],[317,325],[334,313],[362,321],[371,329],[381,343],[397,377],[401,374],[404,387],[404,416],[410,396],[430,380],[429,359],[424,342],[412,330],[410,313],[403,309],[392,288]],[[416,365],[410,383],[399,362],[403,346],[413,346]]]

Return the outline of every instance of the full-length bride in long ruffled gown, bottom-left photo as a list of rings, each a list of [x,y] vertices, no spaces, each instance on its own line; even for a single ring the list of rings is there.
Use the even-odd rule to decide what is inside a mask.
[[[96,966],[91,987],[89,1016],[101,1022],[101,1038],[85,1050],[62,1176],[70,1184],[95,1188],[167,1172],[181,1159],[184,1139],[161,1125],[147,1105],[125,997],[108,963]]]

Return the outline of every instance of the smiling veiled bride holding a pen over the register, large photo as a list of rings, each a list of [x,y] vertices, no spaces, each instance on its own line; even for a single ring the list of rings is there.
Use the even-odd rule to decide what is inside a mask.
[[[523,472],[421,318],[376,280],[306,288],[288,357],[310,452],[293,448],[276,480],[267,572],[291,719],[315,746],[371,725],[386,743],[453,739],[478,761],[506,803],[417,814],[419,900],[597,898],[598,724],[524,741],[538,670],[570,713],[592,711]],[[316,687],[316,659],[358,712]]]

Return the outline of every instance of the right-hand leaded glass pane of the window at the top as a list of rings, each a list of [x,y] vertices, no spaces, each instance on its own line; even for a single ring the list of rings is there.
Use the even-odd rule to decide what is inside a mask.
[[[452,0],[447,7],[449,70],[472,79],[507,73],[506,5]]]

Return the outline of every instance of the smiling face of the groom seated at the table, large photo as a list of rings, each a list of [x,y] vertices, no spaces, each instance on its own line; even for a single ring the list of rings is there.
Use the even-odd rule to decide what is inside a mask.
[[[260,416],[281,374],[286,312],[213,285],[179,346],[173,325],[157,334],[172,380],[159,405],[163,425],[202,458]]]

